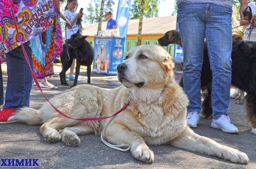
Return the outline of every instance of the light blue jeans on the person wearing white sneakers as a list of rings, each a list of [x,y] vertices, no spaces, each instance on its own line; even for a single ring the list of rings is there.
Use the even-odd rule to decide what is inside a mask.
[[[232,10],[213,4],[181,4],[178,23],[184,50],[183,83],[188,112],[201,110],[204,39],[212,70],[213,118],[227,115],[231,87]]]

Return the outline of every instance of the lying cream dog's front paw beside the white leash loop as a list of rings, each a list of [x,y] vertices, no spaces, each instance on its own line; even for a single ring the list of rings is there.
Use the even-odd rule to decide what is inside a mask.
[[[131,147],[131,153],[132,156],[139,161],[146,163],[153,163],[154,161],[154,152],[150,150],[145,143],[133,145]]]

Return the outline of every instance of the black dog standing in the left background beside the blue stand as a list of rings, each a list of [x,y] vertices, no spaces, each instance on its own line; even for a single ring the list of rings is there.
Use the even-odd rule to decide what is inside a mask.
[[[60,55],[61,64],[63,70],[60,72],[61,85],[68,86],[65,79],[65,73],[73,63],[73,59],[76,59],[76,77],[72,87],[77,85],[78,75],[80,73],[80,66],[87,66],[87,83],[91,83],[91,64],[93,63],[93,46],[87,42],[88,36],[82,36],[79,33],[75,33],[68,40],[67,44],[63,45],[63,52]],[[68,53],[67,53],[68,50]]]

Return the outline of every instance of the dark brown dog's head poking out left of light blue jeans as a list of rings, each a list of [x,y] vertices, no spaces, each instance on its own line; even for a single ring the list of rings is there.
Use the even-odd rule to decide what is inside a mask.
[[[165,36],[157,39],[159,45],[168,46],[169,44],[176,43],[181,46],[180,34],[176,30],[168,31],[165,33]]]

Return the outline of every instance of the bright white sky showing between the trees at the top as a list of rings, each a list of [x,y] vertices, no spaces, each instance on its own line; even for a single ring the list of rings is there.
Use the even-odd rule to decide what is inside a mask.
[[[159,5],[159,12],[158,16],[170,16],[172,15],[174,11],[174,5],[175,1],[174,0],[162,0],[163,2],[160,2]],[[87,4],[90,2],[90,0],[78,0],[78,8],[77,12],[80,10],[80,8],[86,9]],[[113,18],[116,18],[116,11],[117,11],[117,5],[118,5],[118,0],[114,0],[114,6],[113,6]],[[133,3],[133,1],[132,1]],[[86,14],[86,11],[84,11]]]

